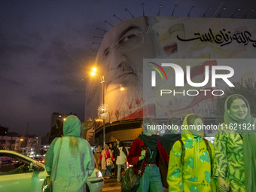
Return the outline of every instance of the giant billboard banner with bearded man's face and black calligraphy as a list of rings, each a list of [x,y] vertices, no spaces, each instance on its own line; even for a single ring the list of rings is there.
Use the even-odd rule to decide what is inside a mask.
[[[123,21],[105,34],[99,47],[95,66],[104,75],[105,93],[103,98],[99,79],[88,80],[85,119],[98,117],[103,99],[109,122],[191,112],[214,117],[215,99],[225,89],[241,79],[254,79],[255,53],[255,20],[138,17]],[[150,88],[145,90],[145,84]]]

